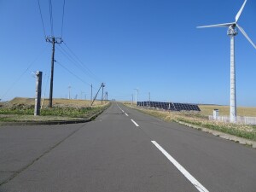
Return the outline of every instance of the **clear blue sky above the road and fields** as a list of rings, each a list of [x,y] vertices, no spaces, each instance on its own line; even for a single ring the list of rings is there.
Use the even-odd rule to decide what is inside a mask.
[[[46,35],[49,1],[40,0]],[[235,21],[243,0],[66,0],[56,45],[54,97],[90,97],[106,84],[110,99],[230,103],[230,38],[226,28],[196,26]],[[54,35],[61,36],[63,0],[52,0]],[[240,26],[256,43],[256,2],[248,0]],[[32,72],[43,72],[49,97],[51,44],[44,39],[38,0],[0,0],[0,98],[33,97]],[[83,62],[68,59],[73,51]],[[66,52],[64,52],[66,51]],[[64,67],[63,67],[64,66]],[[67,71],[67,69],[69,71]],[[72,72],[72,73],[70,73]],[[256,50],[236,36],[238,106],[256,106]],[[82,93],[83,92],[83,93]],[[81,94],[82,93],[82,94]]]

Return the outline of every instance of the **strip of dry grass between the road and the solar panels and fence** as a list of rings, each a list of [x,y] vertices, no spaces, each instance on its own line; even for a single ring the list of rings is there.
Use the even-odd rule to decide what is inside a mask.
[[[215,131],[221,131],[228,133],[236,137],[246,138],[252,141],[256,141],[256,125],[240,125],[240,124],[230,124],[218,121],[208,120],[207,107],[202,110],[201,113],[195,112],[166,112],[147,108],[138,108],[135,105],[125,104],[127,107],[135,108],[143,113],[147,113],[154,117],[163,119],[167,122],[183,122],[190,125],[197,125],[204,128],[208,128]],[[216,106],[215,106],[216,107]],[[201,108],[201,106],[200,106]],[[212,110],[212,107],[208,110]],[[255,108],[254,108],[255,110]],[[246,114],[253,114],[251,112],[245,112]]]

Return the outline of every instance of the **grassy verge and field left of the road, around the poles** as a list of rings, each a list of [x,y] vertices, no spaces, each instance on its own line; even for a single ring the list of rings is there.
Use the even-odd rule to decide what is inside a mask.
[[[40,116],[34,116],[34,99],[15,98],[8,103],[0,104],[0,121],[47,121],[86,119],[108,108],[109,103],[99,105],[99,101],[90,107],[90,101],[55,99],[53,108],[44,107]]]

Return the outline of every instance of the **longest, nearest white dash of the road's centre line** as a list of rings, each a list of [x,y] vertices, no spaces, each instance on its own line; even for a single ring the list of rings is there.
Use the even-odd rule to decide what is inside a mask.
[[[187,170],[185,170],[185,169],[183,168],[183,166],[181,166],[181,165],[177,162],[177,160],[175,160],[170,154],[168,154],[164,148],[162,148],[162,147],[161,147],[158,143],[156,143],[155,141],[151,141],[151,142],[154,144],[154,146],[155,146],[156,148],[158,148],[158,149],[160,150],[160,152],[162,152],[163,154],[165,154],[166,158],[167,158],[168,160],[170,160],[170,161],[172,162],[172,164],[173,164],[174,166],[176,166],[177,169],[178,169],[180,172],[182,172],[185,177],[187,177],[187,179],[189,179],[189,181],[195,186],[196,189],[198,189],[198,190],[201,191],[201,192],[209,192],[204,186],[201,185],[201,183],[199,183],[199,182],[195,179],[195,177],[193,177],[189,172],[187,172]]]

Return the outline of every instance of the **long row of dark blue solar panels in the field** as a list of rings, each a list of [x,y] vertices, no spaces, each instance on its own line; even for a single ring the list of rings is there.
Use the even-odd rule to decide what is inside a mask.
[[[171,111],[201,111],[198,105],[178,102],[137,102],[137,106]]]

